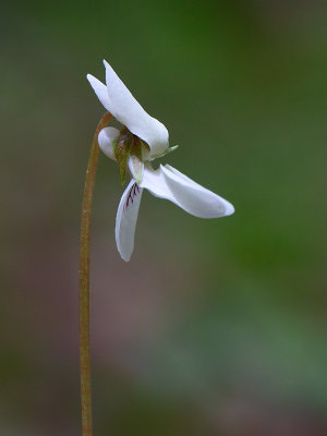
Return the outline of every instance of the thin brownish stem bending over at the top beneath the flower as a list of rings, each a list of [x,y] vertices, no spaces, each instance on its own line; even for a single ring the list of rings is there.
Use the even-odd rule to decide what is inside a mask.
[[[111,117],[111,113],[107,112],[101,118],[95,131],[87,165],[81,216],[78,325],[83,436],[93,435],[89,362],[89,246],[92,203],[99,157],[98,134],[108,124]]]

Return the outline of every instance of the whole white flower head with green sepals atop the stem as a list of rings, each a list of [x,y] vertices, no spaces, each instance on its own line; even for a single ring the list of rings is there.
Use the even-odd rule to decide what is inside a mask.
[[[152,161],[177,148],[169,148],[165,125],[150,117],[132,96],[108,62],[105,86],[93,75],[87,78],[100,102],[121,123],[121,131],[105,128],[98,143],[101,150],[120,167],[122,182],[126,168],[132,179],[122,194],[116,218],[116,242],[124,261],[130,261],[134,250],[134,234],[143,190],[159,198],[174,203],[199,218],[218,218],[234,213],[233,206],[189,179],[169,165],[152,167]]]

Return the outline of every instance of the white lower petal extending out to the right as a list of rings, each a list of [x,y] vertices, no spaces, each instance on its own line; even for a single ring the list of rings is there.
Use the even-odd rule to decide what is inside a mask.
[[[233,214],[233,206],[214,192],[195,183],[170,166],[157,170],[146,168],[141,187],[167,198],[191,215],[199,218],[218,218]]]

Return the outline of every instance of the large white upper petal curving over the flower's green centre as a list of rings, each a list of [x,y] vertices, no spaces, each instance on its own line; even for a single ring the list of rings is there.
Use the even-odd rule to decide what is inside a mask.
[[[152,154],[165,153],[168,147],[168,131],[165,125],[143,109],[109,63],[104,61],[104,64],[109,97],[109,106],[104,106],[134,135],[145,141]]]

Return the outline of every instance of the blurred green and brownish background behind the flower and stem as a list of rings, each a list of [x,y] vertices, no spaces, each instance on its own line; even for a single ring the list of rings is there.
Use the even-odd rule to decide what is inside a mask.
[[[106,58],[235,205],[193,218],[145,193],[131,263],[100,157],[92,252],[96,435],[327,434],[327,4],[2,2],[0,434],[80,428],[83,183]]]

